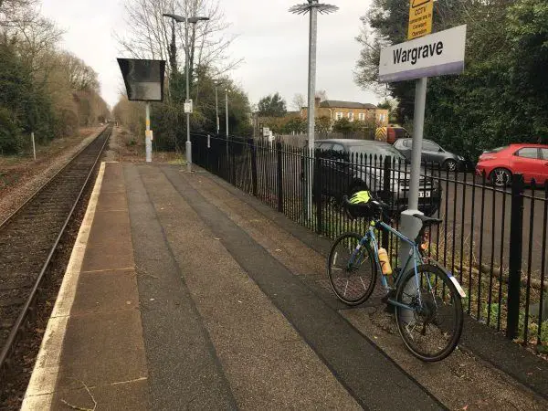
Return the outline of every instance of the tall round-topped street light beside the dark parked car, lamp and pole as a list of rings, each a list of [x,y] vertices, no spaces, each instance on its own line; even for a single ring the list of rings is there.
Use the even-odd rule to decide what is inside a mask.
[[[293,5],[290,7],[290,12],[296,15],[306,15],[310,13],[310,32],[309,32],[309,84],[308,84],[308,149],[309,163],[305,167],[306,176],[306,218],[312,216],[312,164],[314,158],[314,123],[315,123],[315,94],[316,94],[316,40],[318,35],[318,12],[321,14],[329,14],[337,11],[339,7],[336,5],[326,5],[319,3],[318,0],[308,0],[308,3],[301,5]]]

